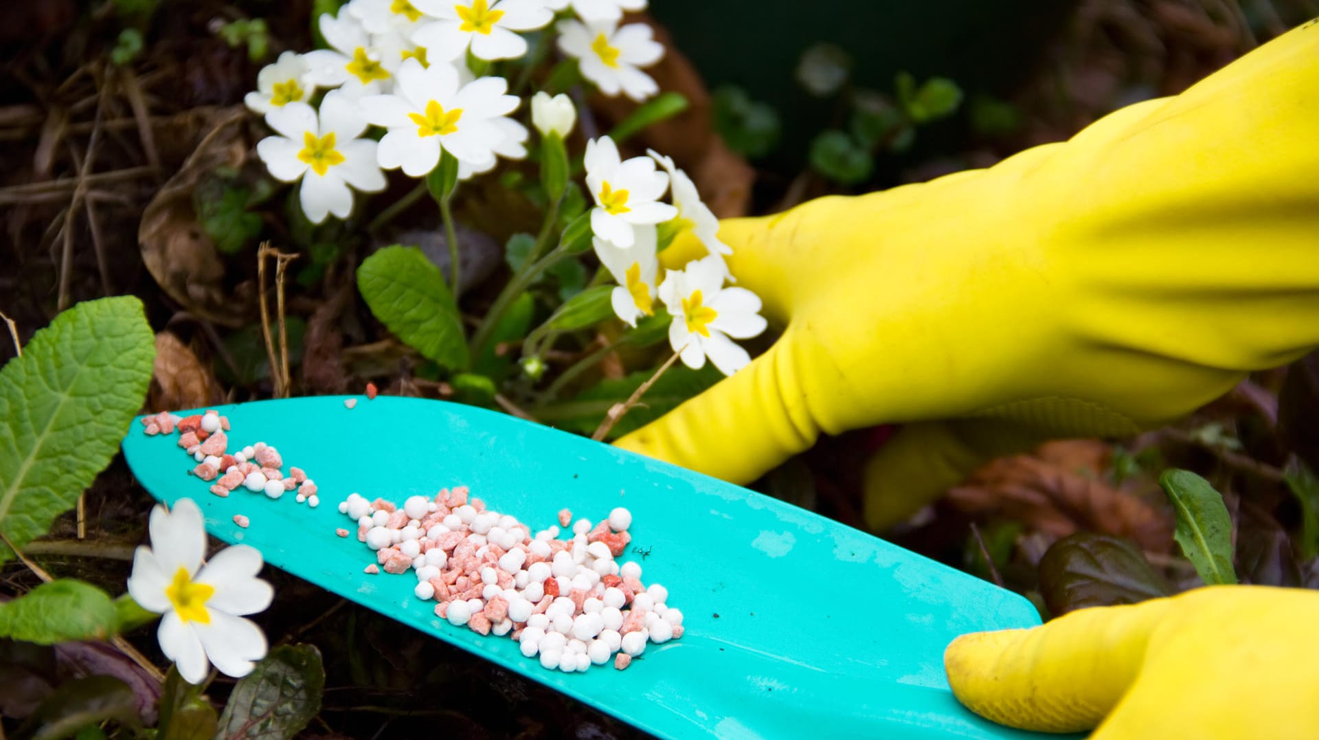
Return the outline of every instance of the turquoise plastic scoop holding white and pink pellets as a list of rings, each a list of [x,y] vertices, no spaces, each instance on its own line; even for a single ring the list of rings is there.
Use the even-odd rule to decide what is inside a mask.
[[[207,530],[266,562],[476,653],[661,737],[1030,737],[964,710],[943,671],[956,636],[1031,627],[1025,599],[811,512],[687,470],[513,417],[441,401],[344,397],[218,410],[230,450],[262,441],[319,487],[315,509],[245,488],[227,499],[187,475],[178,434],[135,423],[128,464],[165,503],[197,501]],[[187,412],[181,412],[187,413]],[[467,485],[534,530],[632,512],[645,583],[669,588],[681,640],[627,670],[565,674],[481,637],[413,595],[412,571],[368,575],[375,553],[339,513],[348,493],[402,504]],[[247,529],[235,514],[251,520]],[[352,534],[340,538],[336,528]],[[257,616],[260,621],[260,616]]]

